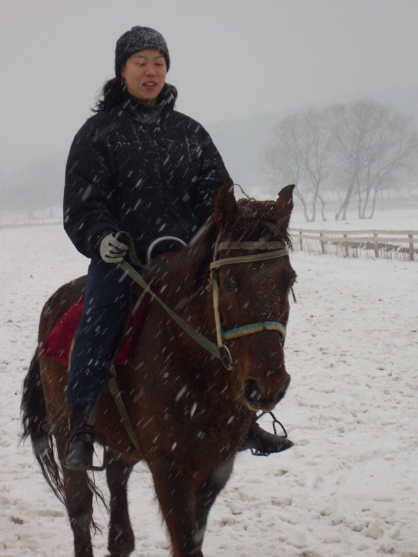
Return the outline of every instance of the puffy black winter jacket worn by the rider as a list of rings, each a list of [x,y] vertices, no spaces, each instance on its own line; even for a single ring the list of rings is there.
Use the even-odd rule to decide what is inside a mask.
[[[155,238],[186,243],[229,180],[208,132],[173,109],[165,86],[155,107],[127,95],[121,107],[89,118],[75,136],[65,171],[64,228],[77,249],[100,258],[104,233],[130,233],[138,256]]]

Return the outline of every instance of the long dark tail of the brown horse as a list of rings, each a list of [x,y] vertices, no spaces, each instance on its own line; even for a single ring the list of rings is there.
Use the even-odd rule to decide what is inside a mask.
[[[28,437],[31,439],[33,453],[40,464],[45,480],[61,503],[65,505],[63,478],[54,455],[54,437],[48,435],[42,427],[47,420],[47,411],[45,395],[40,382],[38,348],[24,378],[20,410],[23,425],[21,441]]]

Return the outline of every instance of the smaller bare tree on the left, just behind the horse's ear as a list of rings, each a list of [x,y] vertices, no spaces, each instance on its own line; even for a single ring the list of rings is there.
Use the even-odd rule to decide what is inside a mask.
[[[318,204],[325,219],[324,180],[329,173],[331,136],[323,111],[309,109],[281,120],[265,151],[265,167],[280,181],[296,184],[308,222],[316,219]]]

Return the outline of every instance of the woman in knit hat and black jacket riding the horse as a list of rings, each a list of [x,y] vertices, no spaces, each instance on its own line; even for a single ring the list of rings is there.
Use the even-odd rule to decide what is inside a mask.
[[[116,77],[104,85],[96,114],[75,136],[68,157],[64,228],[91,258],[66,390],[70,469],[91,467],[95,407],[127,312],[131,281],[116,265],[127,251],[119,232],[130,234],[141,260],[157,237],[187,243],[230,179],[208,132],[174,110],[169,67],[167,43],[155,29],[124,33],[116,43]],[[291,446],[256,424],[253,433],[245,448],[270,453]]]

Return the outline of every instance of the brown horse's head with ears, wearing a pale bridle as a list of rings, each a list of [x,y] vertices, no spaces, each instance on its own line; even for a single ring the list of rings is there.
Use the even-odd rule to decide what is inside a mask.
[[[212,264],[218,344],[231,356],[235,396],[249,409],[269,411],[290,382],[284,364],[288,296],[296,274],[288,258],[293,185],[277,201],[235,201],[233,185],[219,190]]]

